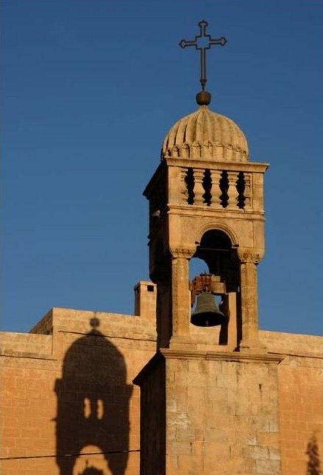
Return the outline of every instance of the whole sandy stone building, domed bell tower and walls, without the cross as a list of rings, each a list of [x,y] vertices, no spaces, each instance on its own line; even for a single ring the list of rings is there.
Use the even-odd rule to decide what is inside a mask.
[[[267,167],[205,105],[175,124],[134,315],[52,309],[1,334],[4,475],[318,475],[322,338],[258,328]],[[190,323],[195,258],[219,326]]]

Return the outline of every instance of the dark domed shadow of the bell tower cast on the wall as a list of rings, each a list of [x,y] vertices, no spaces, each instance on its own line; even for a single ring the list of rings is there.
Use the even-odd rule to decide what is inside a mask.
[[[124,475],[132,386],[122,353],[98,331],[98,319],[90,324],[67,350],[55,384],[56,461],[60,475]]]

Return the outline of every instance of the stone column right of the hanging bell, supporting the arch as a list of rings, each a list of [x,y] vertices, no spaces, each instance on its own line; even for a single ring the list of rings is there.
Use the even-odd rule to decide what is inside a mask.
[[[240,293],[241,293],[241,333],[240,351],[261,351],[264,346],[258,335],[258,286],[257,264],[259,254],[239,253]]]

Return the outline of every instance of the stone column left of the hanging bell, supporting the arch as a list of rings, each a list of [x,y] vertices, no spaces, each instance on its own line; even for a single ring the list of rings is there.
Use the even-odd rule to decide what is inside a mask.
[[[195,249],[171,249],[173,256],[171,343],[175,344],[180,342],[189,343],[189,325],[191,315],[189,259],[192,257],[194,252]]]

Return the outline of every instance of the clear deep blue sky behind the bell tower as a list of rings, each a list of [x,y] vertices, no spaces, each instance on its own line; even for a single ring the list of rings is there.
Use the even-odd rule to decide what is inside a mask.
[[[2,327],[51,307],[132,313],[148,277],[142,191],[196,108],[209,22],[211,108],[265,175],[260,327],[317,334],[322,315],[318,0],[3,0]]]

